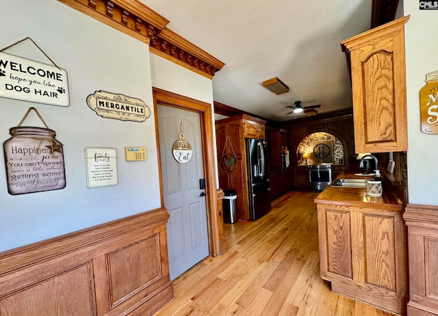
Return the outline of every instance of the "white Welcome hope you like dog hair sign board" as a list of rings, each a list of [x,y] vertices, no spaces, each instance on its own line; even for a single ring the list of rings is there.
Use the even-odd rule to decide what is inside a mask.
[[[0,52],[0,96],[68,107],[67,72],[56,66]]]

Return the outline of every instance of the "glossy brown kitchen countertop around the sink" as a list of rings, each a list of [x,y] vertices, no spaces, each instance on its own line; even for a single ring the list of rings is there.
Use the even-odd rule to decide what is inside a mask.
[[[355,176],[360,171],[348,168],[337,179],[374,179],[374,176]],[[336,179],[333,181],[335,183]],[[329,185],[315,198],[315,203],[345,205],[350,207],[378,207],[384,211],[402,211],[402,201],[383,187],[382,196],[368,196],[365,187],[335,187]]]

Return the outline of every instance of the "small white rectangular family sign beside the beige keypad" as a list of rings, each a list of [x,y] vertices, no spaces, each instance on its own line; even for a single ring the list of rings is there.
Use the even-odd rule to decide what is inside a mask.
[[[86,147],[87,187],[118,185],[117,150],[107,147]]]

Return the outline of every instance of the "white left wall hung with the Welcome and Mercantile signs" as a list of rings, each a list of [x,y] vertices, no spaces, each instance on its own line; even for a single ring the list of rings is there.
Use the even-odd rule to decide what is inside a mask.
[[[2,0],[0,20],[0,49],[31,37],[67,71],[70,88],[69,107],[0,98],[1,142],[36,107],[64,144],[66,168],[64,189],[12,196],[0,158],[0,251],[160,207],[153,114],[126,122],[101,118],[86,104],[89,94],[105,90],[140,98],[153,113],[149,47],[54,0]],[[5,52],[50,64],[29,41]],[[118,185],[87,188],[86,146],[117,149]],[[146,147],[147,160],[125,161],[125,146]]]

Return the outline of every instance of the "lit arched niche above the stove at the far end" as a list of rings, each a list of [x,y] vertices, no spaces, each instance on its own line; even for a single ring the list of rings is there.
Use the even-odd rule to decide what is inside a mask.
[[[329,155],[324,153],[320,157],[315,156],[313,149],[318,144],[325,144],[324,148],[329,148]],[[308,153],[307,157],[304,155]],[[318,150],[316,150],[318,153]],[[296,165],[312,165],[318,163],[333,163],[334,165],[348,164],[349,148],[346,140],[337,131],[312,131],[305,133],[294,144],[294,156]],[[326,156],[326,157],[324,157]]]

